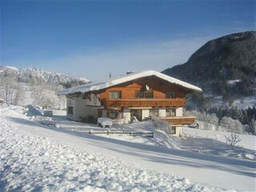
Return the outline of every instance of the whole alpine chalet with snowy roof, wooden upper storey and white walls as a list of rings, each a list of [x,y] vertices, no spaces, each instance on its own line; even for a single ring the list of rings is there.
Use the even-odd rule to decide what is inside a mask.
[[[74,121],[94,118],[122,118],[130,122],[157,116],[170,122],[171,134],[182,134],[182,125],[195,121],[194,116],[182,116],[186,94],[202,92],[197,86],[171,78],[154,70],[130,73],[106,82],[88,83],[59,90],[66,95],[66,115]]]

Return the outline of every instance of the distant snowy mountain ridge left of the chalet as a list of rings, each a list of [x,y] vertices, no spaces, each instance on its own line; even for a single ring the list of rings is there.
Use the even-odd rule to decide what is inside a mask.
[[[0,76],[13,76],[18,82],[47,82],[69,87],[90,82],[87,78],[71,78],[64,74],[39,70],[38,68],[18,69],[13,66],[0,66]]]

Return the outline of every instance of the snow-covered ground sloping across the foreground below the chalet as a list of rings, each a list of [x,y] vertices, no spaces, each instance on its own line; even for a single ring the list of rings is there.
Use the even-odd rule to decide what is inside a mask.
[[[252,135],[240,135],[231,150],[223,132],[185,128],[186,137],[175,138],[140,122],[110,131],[153,131],[154,138],[94,135],[86,132],[107,129],[70,122],[63,111],[53,118],[31,106],[0,112],[0,191],[255,190]]]

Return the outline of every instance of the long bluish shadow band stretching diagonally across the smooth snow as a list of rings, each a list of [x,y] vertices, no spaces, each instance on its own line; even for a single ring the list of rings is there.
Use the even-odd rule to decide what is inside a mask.
[[[188,150],[173,150],[161,146],[149,146],[142,143],[126,142],[114,138],[105,138],[97,135],[83,134],[78,131],[55,128],[23,118],[10,117],[10,119],[27,126],[36,126],[36,128],[44,128],[63,134],[74,135],[81,138],[84,142],[89,142],[92,146],[102,147],[121,154],[130,154],[149,162],[197,167],[201,169],[209,168],[213,170],[233,172],[234,174],[242,174],[252,178],[256,177],[254,171],[256,168],[255,162],[250,160],[222,157],[212,154],[201,154]],[[210,140],[207,139],[207,142],[208,141]],[[202,143],[205,142],[202,141]],[[217,142],[213,142],[212,144],[215,145],[216,143]],[[226,144],[218,142],[218,146],[216,147],[226,147]]]

